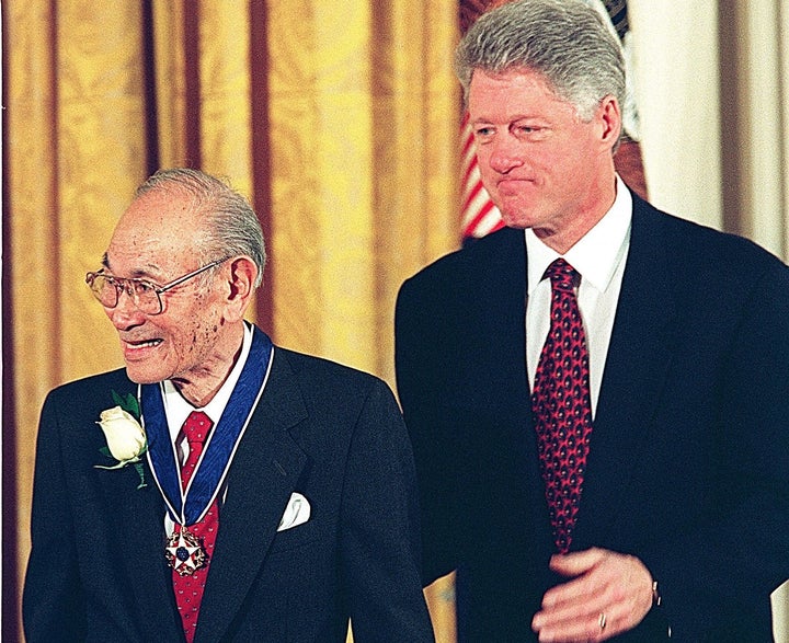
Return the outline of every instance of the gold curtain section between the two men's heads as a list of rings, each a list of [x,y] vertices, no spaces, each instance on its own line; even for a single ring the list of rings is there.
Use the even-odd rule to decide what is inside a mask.
[[[268,4],[276,335],[390,382],[397,288],[457,244],[455,11]]]

